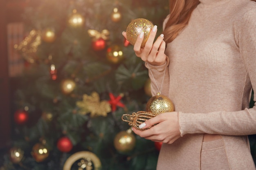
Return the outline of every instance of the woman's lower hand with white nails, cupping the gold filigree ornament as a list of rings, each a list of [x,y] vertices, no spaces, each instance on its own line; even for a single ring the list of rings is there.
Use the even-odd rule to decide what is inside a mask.
[[[155,126],[153,126],[156,124]],[[153,127],[151,127],[153,126]],[[161,113],[156,117],[148,119],[144,124],[140,125],[140,128],[149,128],[147,130],[137,130],[132,128],[135,134],[145,139],[163,142],[166,144],[172,144],[180,136],[180,124],[177,112]]]

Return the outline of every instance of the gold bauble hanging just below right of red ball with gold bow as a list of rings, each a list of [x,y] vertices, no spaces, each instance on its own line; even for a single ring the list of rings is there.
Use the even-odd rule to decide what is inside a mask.
[[[108,61],[112,64],[118,64],[122,60],[124,60],[122,47],[116,44],[108,47],[106,55],[107,55]]]

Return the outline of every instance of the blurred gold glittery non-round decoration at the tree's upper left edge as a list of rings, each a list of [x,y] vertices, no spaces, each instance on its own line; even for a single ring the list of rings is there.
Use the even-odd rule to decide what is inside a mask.
[[[34,63],[37,59],[36,52],[40,44],[40,31],[33,29],[20,44],[14,45],[14,49],[16,49],[28,63]]]

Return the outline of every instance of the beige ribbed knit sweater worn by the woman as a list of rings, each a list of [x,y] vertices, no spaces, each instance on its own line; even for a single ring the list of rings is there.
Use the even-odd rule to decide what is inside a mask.
[[[222,135],[231,170],[255,170],[247,135],[256,134],[256,106],[248,108],[256,91],[256,3],[200,2],[167,44],[166,64],[146,63],[153,95],[164,79],[161,93],[179,112],[182,135],[162,145],[157,170],[199,170],[204,133]]]

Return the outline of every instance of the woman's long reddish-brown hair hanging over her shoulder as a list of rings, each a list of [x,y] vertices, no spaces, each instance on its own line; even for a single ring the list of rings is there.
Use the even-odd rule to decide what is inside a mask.
[[[189,23],[191,13],[199,3],[199,0],[169,0],[170,14],[163,31],[166,43],[172,42]]]

